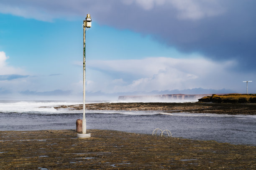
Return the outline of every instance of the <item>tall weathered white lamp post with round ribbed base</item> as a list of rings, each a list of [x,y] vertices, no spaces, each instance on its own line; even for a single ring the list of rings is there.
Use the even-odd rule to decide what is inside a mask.
[[[92,18],[90,14],[87,14],[83,22],[83,32],[84,32],[84,64],[83,64],[83,119],[82,119],[82,133],[77,133],[77,138],[90,138],[91,134],[86,133],[86,119],[85,119],[85,32],[92,26]]]

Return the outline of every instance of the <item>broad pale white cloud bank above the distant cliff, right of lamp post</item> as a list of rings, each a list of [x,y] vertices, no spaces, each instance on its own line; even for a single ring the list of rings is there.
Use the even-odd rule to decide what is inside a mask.
[[[112,76],[108,78],[104,76],[104,81],[101,81],[100,76],[94,75],[93,77],[96,78],[91,80],[94,82],[93,85],[87,86],[87,90],[93,92],[150,92],[197,87],[221,89],[225,86],[223,87],[223,83],[218,81],[231,77],[236,80],[235,77],[238,76],[237,73],[229,71],[237,65],[236,61],[214,62],[202,57],[191,59],[149,57],[142,60],[93,60],[87,63],[105,74],[111,72]],[[129,78],[125,80],[122,77]],[[228,86],[232,82],[224,84]]]

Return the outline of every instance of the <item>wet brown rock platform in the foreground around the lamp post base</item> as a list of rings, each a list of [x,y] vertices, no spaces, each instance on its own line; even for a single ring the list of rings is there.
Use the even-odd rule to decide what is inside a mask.
[[[0,169],[256,169],[256,147],[113,130],[0,131]]]

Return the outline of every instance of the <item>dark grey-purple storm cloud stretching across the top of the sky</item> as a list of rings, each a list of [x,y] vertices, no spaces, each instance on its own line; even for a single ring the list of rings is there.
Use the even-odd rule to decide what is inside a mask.
[[[90,13],[101,25],[150,34],[213,60],[238,60],[242,70],[255,68],[255,0],[2,0],[0,6],[2,13],[46,21]]]

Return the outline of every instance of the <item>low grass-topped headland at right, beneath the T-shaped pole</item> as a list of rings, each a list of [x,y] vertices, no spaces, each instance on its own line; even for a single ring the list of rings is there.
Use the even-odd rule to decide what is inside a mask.
[[[198,99],[199,102],[214,103],[256,103],[256,94],[212,95]]]

